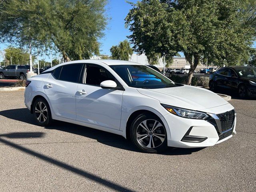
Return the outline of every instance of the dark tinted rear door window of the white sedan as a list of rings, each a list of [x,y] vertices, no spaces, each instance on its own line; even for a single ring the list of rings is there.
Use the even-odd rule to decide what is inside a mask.
[[[83,64],[70,64],[62,66],[59,80],[79,82]]]

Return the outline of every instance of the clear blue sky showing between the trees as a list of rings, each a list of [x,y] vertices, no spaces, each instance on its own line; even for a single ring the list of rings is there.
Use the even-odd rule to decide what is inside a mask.
[[[137,2],[137,0],[129,0],[129,2]],[[106,7],[107,14],[111,18],[108,22],[108,26],[105,30],[105,36],[100,40],[100,54],[110,55],[110,48],[113,45],[117,45],[120,41],[123,41],[127,35],[130,34],[129,30],[124,27],[124,18],[128,14],[132,6],[126,3],[125,0],[109,0]],[[3,50],[10,44],[0,44],[0,50]],[[45,58],[46,61],[50,61],[48,56],[39,57],[39,59]],[[0,61],[3,58],[0,55]]]

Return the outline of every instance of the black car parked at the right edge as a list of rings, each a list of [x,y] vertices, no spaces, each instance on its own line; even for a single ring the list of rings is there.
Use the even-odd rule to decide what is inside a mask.
[[[210,90],[235,90],[240,98],[256,96],[256,68],[245,66],[223,67],[210,75]]]

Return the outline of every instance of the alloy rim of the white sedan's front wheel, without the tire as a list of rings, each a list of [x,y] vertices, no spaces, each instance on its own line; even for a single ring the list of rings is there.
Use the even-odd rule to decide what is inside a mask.
[[[148,119],[141,122],[136,130],[137,141],[144,147],[156,148],[166,137],[164,126],[157,120]]]

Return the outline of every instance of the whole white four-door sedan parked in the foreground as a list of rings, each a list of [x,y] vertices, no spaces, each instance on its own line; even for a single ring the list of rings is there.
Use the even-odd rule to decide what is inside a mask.
[[[134,71],[158,80],[132,78]],[[104,130],[130,138],[143,152],[213,146],[235,133],[236,114],[226,100],[134,62],[59,64],[29,78],[24,96],[40,126],[60,120]]]

